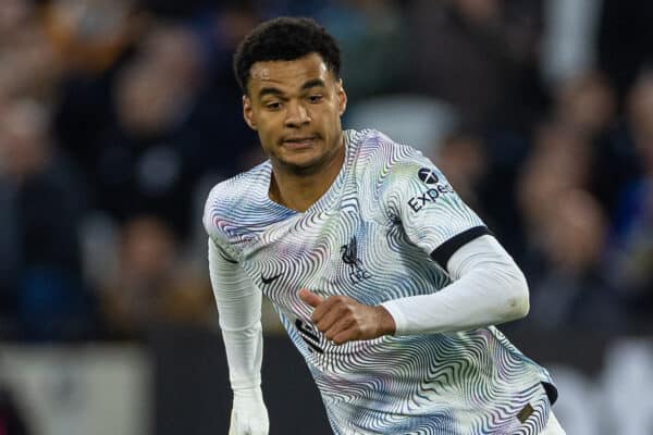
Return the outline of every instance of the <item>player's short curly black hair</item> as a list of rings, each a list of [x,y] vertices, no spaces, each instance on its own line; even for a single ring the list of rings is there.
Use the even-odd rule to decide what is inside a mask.
[[[315,20],[282,16],[259,24],[243,39],[234,53],[234,73],[243,94],[247,94],[249,70],[256,62],[293,61],[318,53],[326,67],[340,78],[341,51],[324,27]]]

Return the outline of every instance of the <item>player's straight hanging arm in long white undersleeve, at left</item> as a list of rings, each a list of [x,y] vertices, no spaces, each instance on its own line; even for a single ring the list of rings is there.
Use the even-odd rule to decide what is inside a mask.
[[[230,435],[268,435],[261,393],[261,293],[209,238],[209,270],[234,393]]]

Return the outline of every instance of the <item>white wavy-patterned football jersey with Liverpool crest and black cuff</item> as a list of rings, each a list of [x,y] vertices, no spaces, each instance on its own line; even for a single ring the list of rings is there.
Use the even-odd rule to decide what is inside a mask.
[[[538,434],[549,373],[494,326],[334,345],[297,296],[361,303],[439,291],[446,262],[488,234],[434,164],[375,130],[346,130],[330,189],[296,212],[269,199],[271,163],[217,185],[205,226],[273,302],[337,435]]]

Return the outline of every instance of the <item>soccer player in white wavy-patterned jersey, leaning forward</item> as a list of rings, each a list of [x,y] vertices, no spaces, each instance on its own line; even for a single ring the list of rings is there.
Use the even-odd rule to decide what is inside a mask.
[[[230,435],[266,435],[261,298],[273,302],[336,435],[564,434],[543,368],[493,325],[528,311],[514,260],[435,165],[343,130],[333,37],[275,18],[234,69],[264,163],[206,203],[226,347]]]

